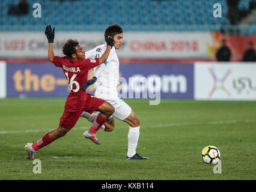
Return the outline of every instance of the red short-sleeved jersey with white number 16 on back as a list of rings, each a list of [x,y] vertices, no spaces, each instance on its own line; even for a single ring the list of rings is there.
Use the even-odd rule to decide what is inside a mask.
[[[66,105],[75,109],[84,108],[87,92],[82,91],[81,87],[87,82],[88,71],[99,65],[99,58],[72,61],[68,56],[54,56],[53,64],[62,68],[69,84],[70,93]]]

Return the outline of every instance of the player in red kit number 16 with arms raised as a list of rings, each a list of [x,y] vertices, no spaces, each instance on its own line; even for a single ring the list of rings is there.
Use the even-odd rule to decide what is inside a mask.
[[[55,28],[51,26],[46,27],[45,35],[48,39],[48,59],[56,67],[62,68],[70,88],[70,94],[67,97],[64,107],[64,113],[59,120],[59,127],[49,133],[46,133],[41,139],[34,143],[26,143],[25,149],[28,151],[28,158],[34,159],[34,154],[38,149],[49,145],[53,140],[65,136],[65,134],[72,129],[78,121],[81,113],[85,110],[93,113],[95,110],[101,112],[99,118],[88,131],[85,137],[93,140],[94,143],[100,144],[96,138],[96,132],[108,120],[109,116],[114,112],[114,107],[94,95],[87,94],[83,90],[82,85],[87,82],[88,71],[108,59],[109,52],[114,45],[113,38],[109,38],[107,49],[101,58],[85,59],[85,50],[76,40],[68,40],[62,47],[63,57],[54,56],[53,40],[55,37]]]

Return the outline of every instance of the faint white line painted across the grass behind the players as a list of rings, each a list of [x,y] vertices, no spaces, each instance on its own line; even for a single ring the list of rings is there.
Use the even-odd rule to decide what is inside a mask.
[[[171,124],[157,124],[147,125],[147,127],[180,127],[186,125],[221,125],[221,124],[236,124],[237,122],[255,122],[256,119],[243,119],[243,120],[226,120],[226,121],[210,121],[210,122],[176,122]],[[87,130],[90,127],[75,127],[73,130]],[[46,132],[52,131],[54,128],[47,130],[20,130],[20,131],[0,131],[0,134],[12,134],[12,133],[35,133],[35,132]]]

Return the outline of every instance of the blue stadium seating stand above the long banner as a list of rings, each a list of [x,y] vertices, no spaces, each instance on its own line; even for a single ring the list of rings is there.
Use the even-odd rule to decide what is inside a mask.
[[[0,31],[42,31],[51,21],[62,31],[102,31],[112,23],[118,23],[126,31],[230,31],[239,29],[243,35],[255,34],[255,17],[246,20],[251,13],[255,13],[256,0],[237,0],[237,9],[244,23],[231,25],[228,18],[228,0],[219,0],[222,5],[222,17],[214,18],[213,4],[215,0],[44,0],[41,4],[41,18],[34,19],[32,12],[33,0],[29,4],[28,14],[8,14],[12,5],[19,0],[2,0],[0,4]],[[55,11],[52,11],[55,10]],[[94,11],[97,10],[97,11]],[[118,17],[117,17],[118,15]],[[65,19],[63,19],[65,18]],[[226,30],[228,29],[228,30]],[[234,31],[234,30],[233,30]]]

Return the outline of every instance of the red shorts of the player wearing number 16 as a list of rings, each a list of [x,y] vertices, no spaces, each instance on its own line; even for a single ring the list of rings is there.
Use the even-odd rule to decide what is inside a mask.
[[[84,110],[88,113],[93,113],[103,103],[105,103],[105,100],[91,94],[87,94],[87,101],[82,109],[75,109],[66,103],[64,113],[59,120],[59,126],[73,128]]]

